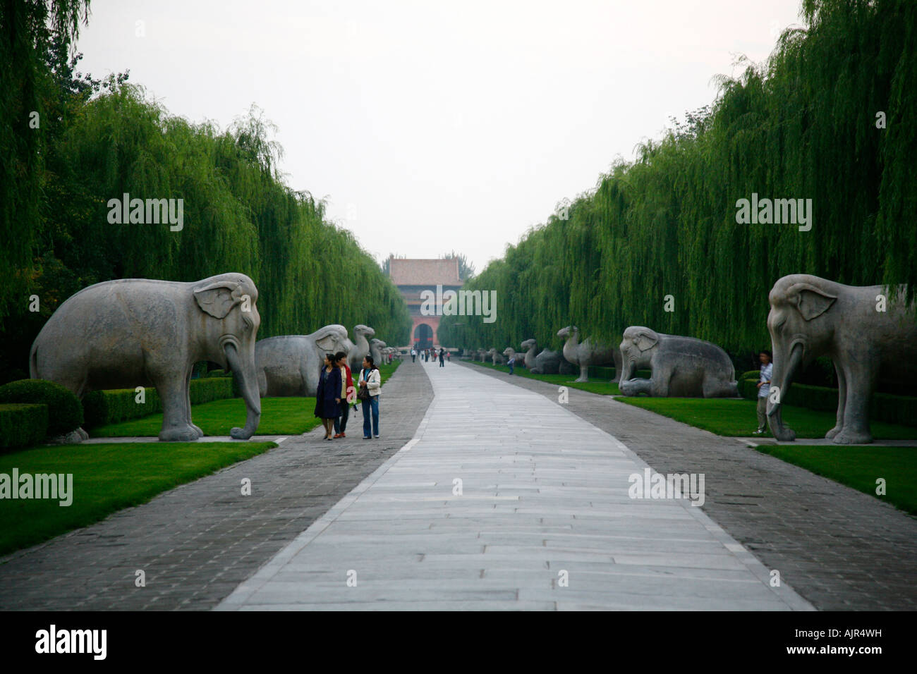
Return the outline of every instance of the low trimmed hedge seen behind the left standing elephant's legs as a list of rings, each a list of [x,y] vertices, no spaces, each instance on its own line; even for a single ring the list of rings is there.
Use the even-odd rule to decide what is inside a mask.
[[[193,379],[189,391],[193,405],[236,397],[233,380],[228,376]],[[155,388],[150,386],[144,395],[145,401],[141,404],[137,402],[135,389],[87,393],[83,399],[86,426],[94,428],[99,425],[117,424],[127,419],[138,419],[141,416],[162,412],[162,401]]]

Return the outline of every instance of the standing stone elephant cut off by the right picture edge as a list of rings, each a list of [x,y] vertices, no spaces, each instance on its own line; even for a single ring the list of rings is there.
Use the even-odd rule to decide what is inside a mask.
[[[791,274],[774,283],[768,299],[768,331],[774,351],[768,425],[779,440],[796,434],[784,425],[781,403],[793,377],[820,356],[834,361],[837,421],[825,437],[838,445],[872,442],[869,398],[878,380],[917,377],[917,316],[904,302],[904,289],[853,286],[810,274]],[[884,304],[883,304],[884,300]],[[881,311],[885,309],[885,311]]]

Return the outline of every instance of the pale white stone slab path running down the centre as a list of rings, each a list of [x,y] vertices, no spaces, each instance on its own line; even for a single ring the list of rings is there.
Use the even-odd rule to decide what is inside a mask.
[[[414,439],[217,610],[812,610],[688,500],[630,499],[646,463],[613,436],[424,367],[436,397]]]

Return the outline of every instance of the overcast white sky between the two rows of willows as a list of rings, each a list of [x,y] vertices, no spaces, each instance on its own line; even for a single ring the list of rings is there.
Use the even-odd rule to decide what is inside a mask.
[[[282,171],[371,254],[481,271],[669,116],[763,61],[800,0],[93,0],[83,72],[173,115],[259,105]],[[142,21],[142,37],[138,37]]]

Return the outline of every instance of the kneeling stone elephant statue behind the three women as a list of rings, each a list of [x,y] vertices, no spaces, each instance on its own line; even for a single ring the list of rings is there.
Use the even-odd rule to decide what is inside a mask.
[[[347,352],[350,344],[347,328],[337,324],[321,327],[311,335],[261,339],[255,345],[260,396],[315,395],[325,354]]]

